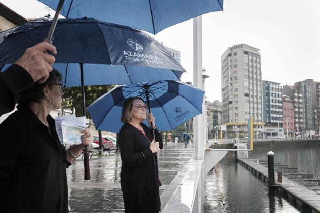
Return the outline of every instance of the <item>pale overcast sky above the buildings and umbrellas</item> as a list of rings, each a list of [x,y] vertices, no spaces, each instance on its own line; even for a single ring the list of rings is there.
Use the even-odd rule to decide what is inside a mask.
[[[47,14],[36,0],[0,2],[26,18]],[[221,55],[240,43],[261,50],[263,80],[282,85],[307,78],[320,81],[319,29],[319,0],[224,0],[224,12],[202,16],[203,67],[210,75],[205,86],[208,99],[221,100]],[[155,38],[181,51],[181,64],[188,72],[182,81],[192,81],[192,21],[165,29]]]

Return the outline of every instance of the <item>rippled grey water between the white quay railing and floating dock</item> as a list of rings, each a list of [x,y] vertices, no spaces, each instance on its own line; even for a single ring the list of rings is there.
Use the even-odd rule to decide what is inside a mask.
[[[266,152],[267,153],[267,152]],[[225,212],[285,213],[304,212],[290,205],[277,193],[269,194],[268,187],[254,177],[228,153],[216,166],[217,179],[224,195]]]

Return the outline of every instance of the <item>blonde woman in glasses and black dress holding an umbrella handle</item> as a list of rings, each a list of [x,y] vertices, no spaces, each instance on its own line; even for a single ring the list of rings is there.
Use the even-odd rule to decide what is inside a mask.
[[[142,123],[148,119],[149,127]],[[141,98],[125,100],[119,133],[121,153],[121,189],[125,212],[154,213],[160,211],[158,165],[155,153],[162,149],[162,137],[152,113],[147,116],[147,106]],[[155,129],[155,139],[151,125]]]

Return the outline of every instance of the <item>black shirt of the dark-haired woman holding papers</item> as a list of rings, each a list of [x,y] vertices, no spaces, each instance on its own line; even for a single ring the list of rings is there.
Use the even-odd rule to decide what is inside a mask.
[[[29,109],[18,111],[0,125],[0,212],[68,212],[65,147],[54,119],[53,137]]]

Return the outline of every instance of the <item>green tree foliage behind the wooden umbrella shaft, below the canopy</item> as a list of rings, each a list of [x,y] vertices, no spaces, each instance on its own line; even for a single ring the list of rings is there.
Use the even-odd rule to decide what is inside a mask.
[[[101,95],[107,93],[114,85],[85,86],[86,107],[97,100]],[[62,99],[62,108],[75,108],[75,115],[82,116],[82,94],[81,87],[67,87]],[[88,112],[86,112],[89,118]]]

